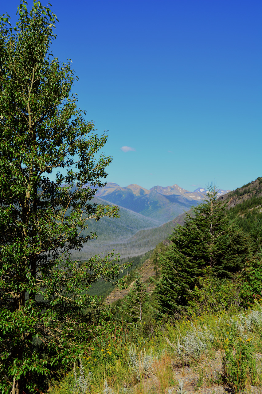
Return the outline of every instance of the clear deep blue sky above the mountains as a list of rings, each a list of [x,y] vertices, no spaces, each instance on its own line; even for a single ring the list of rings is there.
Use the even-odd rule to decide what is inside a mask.
[[[53,53],[72,59],[87,120],[109,130],[107,182],[232,190],[262,176],[261,0],[51,4]],[[17,6],[1,14],[14,21]]]

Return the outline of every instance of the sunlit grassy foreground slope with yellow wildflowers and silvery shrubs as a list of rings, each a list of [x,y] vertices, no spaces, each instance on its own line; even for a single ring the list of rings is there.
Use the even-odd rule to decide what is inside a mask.
[[[223,382],[233,392],[261,387],[255,353],[262,350],[262,307],[240,313],[193,316],[166,324],[144,338],[141,326],[121,335],[97,338],[94,347],[78,358],[75,368],[51,381],[49,394],[146,394],[185,392],[175,370],[197,374],[196,389]],[[223,368],[214,373],[210,361],[221,354]],[[78,366],[78,368],[77,368]],[[180,386],[179,386],[180,385]]]

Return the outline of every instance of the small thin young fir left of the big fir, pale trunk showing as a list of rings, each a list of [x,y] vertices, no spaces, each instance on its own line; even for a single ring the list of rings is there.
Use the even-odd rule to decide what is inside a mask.
[[[142,322],[147,301],[146,285],[141,281],[141,275],[136,273],[135,283],[123,303],[123,310],[133,323],[138,322],[138,320]]]

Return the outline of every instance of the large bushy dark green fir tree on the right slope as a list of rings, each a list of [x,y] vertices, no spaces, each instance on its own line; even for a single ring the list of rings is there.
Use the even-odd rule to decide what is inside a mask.
[[[218,278],[231,278],[249,256],[249,238],[230,222],[217,194],[211,184],[204,202],[192,208],[192,216],[186,213],[185,225],[174,229],[170,248],[159,258],[162,278],[155,292],[165,314],[185,309],[195,286],[201,286],[204,268]]]

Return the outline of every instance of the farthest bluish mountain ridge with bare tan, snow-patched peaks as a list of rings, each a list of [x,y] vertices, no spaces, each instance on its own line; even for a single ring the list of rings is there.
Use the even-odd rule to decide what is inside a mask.
[[[205,188],[198,188],[190,192],[177,184],[167,187],[154,186],[147,190],[136,184],[122,188],[116,183],[108,183],[105,188],[98,190],[96,196],[163,224],[187,211],[192,205],[196,206],[205,198],[205,191]],[[221,190],[220,194],[226,192]]]

